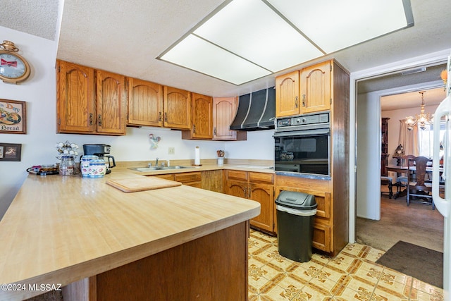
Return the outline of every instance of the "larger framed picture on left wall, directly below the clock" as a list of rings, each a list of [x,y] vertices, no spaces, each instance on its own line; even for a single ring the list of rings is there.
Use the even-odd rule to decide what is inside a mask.
[[[27,133],[26,102],[0,99],[0,133]]]

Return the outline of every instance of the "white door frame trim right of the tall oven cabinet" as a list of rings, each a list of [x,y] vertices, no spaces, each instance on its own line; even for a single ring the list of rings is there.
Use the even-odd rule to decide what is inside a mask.
[[[451,49],[417,56],[404,61],[397,61],[386,65],[360,70],[350,74],[350,224],[349,224],[349,240],[355,242],[356,239],[356,217],[357,217],[357,82],[369,78],[376,78],[389,73],[400,72],[401,70],[416,68],[433,63],[443,63],[447,61]],[[379,97],[380,98],[380,97]],[[379,99],[380,102],[380,99]],[[380,107],[380,104],[379,104]],[[352,126],[354,125],[354,126]],[[380,137],[378,138],[380,142]],[[366,175],[369,173],[361,170]],[[379,168],[380,173],[380,168]],[[377,173],[373,176],[376,181],[380,178]],[[380,203],[380,199],[379,199]],[[380,210],[380,207],[379,207]]]

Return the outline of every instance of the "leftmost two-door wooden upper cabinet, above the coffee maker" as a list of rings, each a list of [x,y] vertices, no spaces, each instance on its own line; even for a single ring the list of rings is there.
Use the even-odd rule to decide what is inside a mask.
[[[123,75],[65,61],[56,68],[57,133],[125,135]]]

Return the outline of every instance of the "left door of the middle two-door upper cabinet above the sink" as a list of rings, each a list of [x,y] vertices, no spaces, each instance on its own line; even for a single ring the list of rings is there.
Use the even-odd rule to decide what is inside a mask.
[[[163,126],[163,86],[128,78],[128,124]]]

